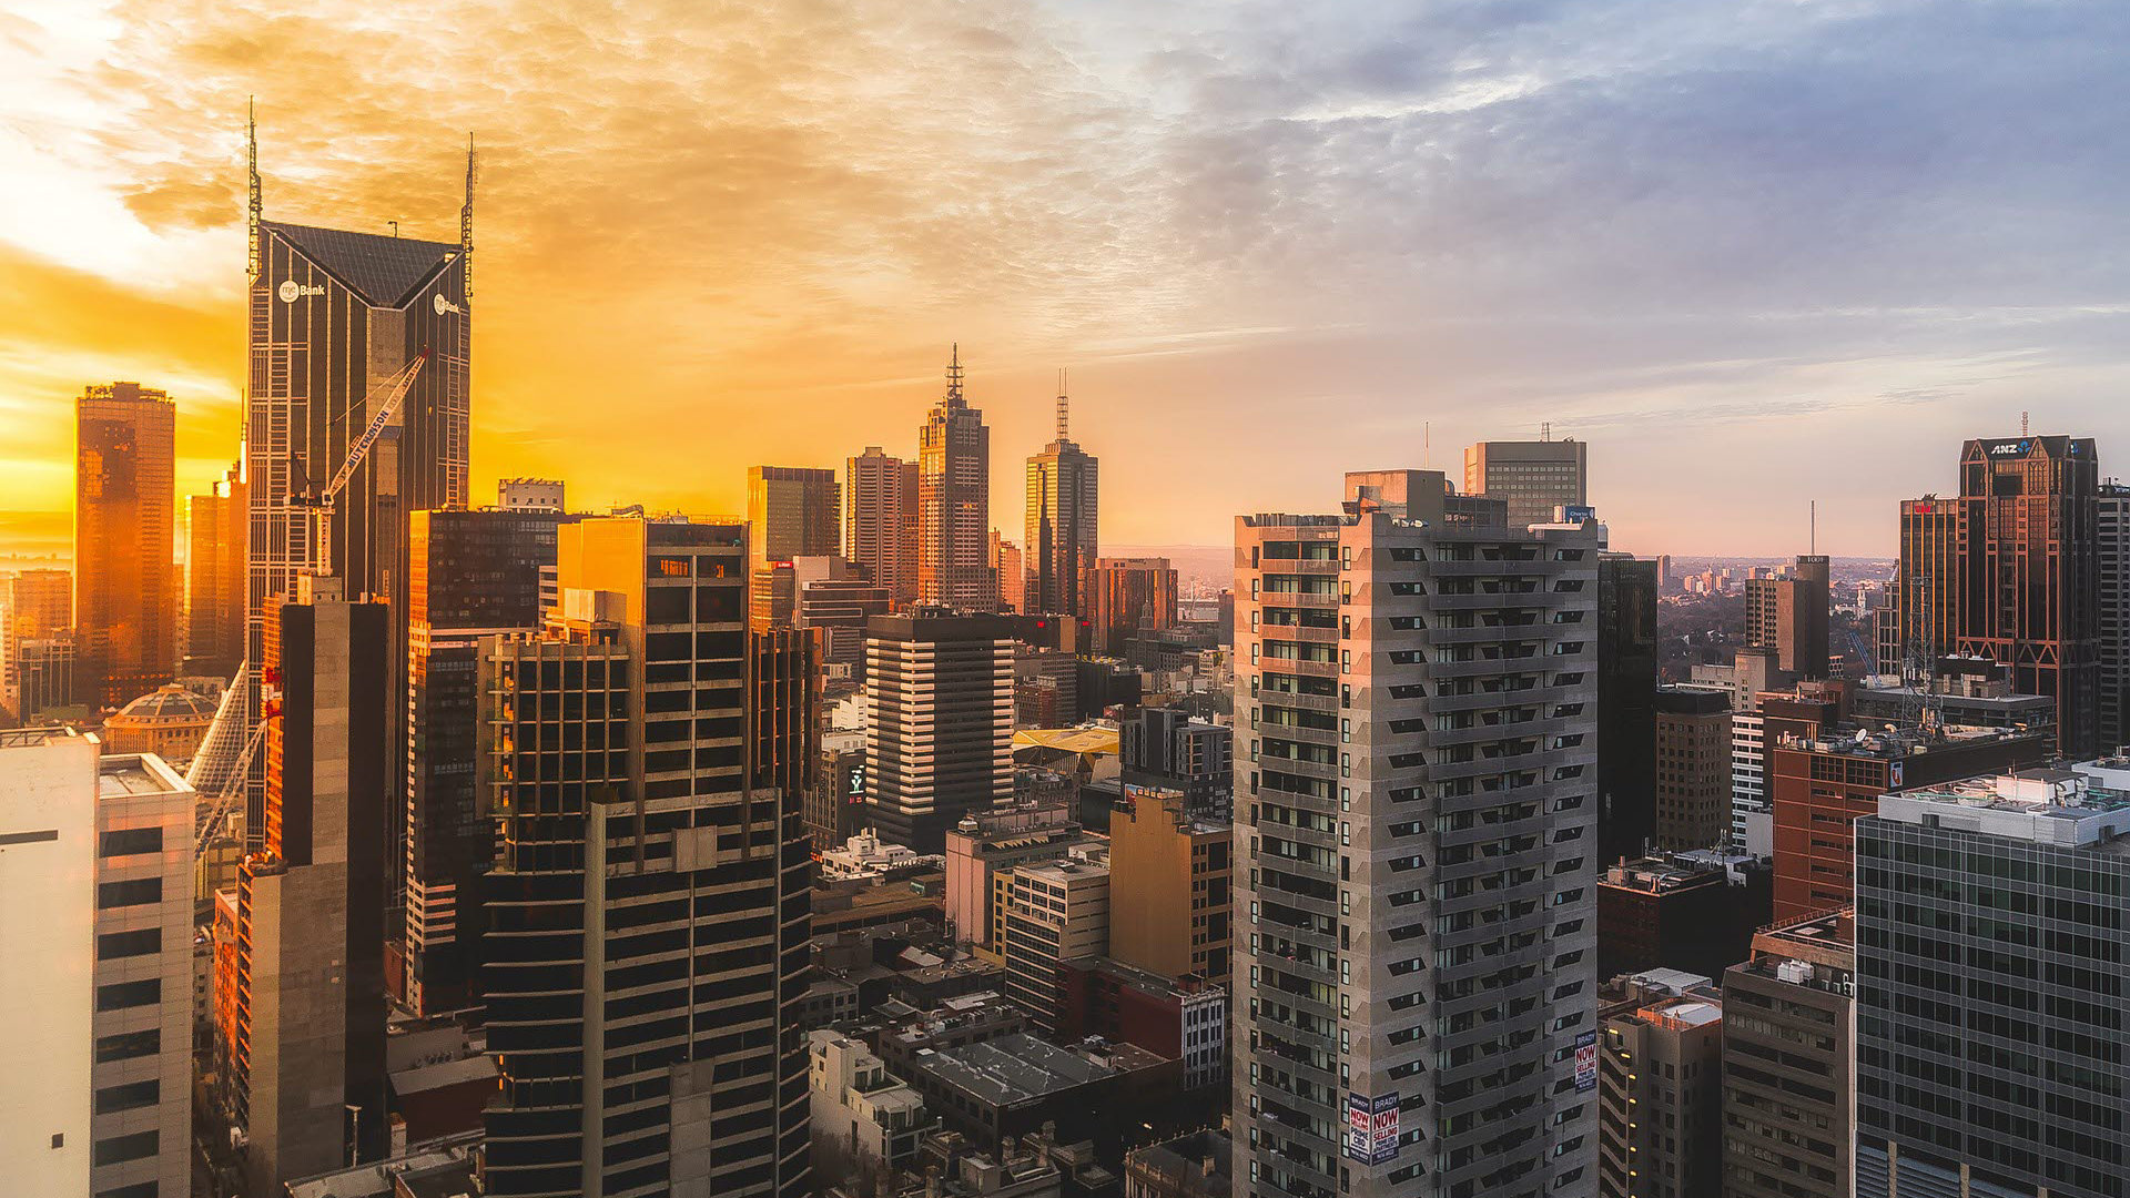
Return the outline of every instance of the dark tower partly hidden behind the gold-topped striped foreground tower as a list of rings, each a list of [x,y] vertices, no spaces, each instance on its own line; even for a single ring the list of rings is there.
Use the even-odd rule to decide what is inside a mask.
[[[494,827],[475,787],[479,642],[539,631],[541,567],[554,567],[545,507],[415,512],[407,531],[407,1004],[422,1015],[469,1006],[481,949],[481,876]]]

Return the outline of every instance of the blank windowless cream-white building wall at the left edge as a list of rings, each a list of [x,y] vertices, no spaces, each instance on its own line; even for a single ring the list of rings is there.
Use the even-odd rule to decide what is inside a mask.
[[[70,729],[0,731],[0,1187],[11,1194],[89,1194],[96,750]]]

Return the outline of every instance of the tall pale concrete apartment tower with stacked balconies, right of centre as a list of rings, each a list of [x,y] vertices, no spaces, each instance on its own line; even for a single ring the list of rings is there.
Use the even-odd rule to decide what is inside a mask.
[[[1238,1198],[1595,1194],[1595,524],[1235,522]]]

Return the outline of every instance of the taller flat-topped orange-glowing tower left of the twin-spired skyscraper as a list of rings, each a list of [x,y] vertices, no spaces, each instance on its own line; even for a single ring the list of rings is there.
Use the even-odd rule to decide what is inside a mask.
[[[83,699],[119,708],[177,676],[177,405],[111,384],[83,390],[75,414]]]

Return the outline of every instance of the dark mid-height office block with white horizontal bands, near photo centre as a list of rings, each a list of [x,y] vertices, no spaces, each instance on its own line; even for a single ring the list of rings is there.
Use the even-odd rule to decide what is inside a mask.
[[[999,616],[875,616],[865,629],[865,793],[882,840],[939,853],[963,814],[1014,797],[1014,635]]]

